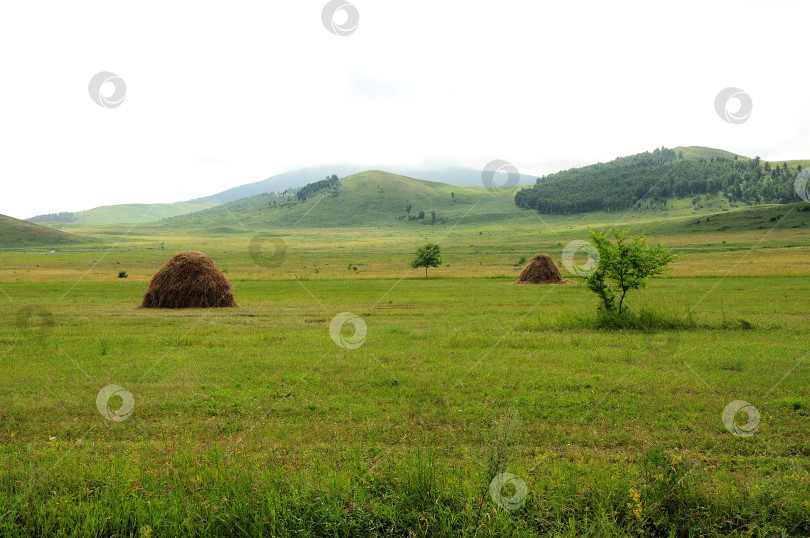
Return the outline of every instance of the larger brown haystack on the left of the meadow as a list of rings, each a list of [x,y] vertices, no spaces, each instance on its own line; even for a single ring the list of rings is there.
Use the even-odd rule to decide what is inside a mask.
[[[202,252],[175,254],[152,277],[141,308],[213,308],[237,306],[233,288]]]

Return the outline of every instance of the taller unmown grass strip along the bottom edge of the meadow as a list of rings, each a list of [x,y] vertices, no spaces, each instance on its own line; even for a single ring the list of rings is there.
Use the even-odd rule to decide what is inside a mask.
[[[187,455],[188,459],[193,456]],[[503,463],[503,462],[500,462]],[[587,463],[587,464],[584,464]],[[640,464],[547,465],[529,473],[517,511],[480,498],[430,455],[353,472],[175,469],[173,485],[115,469],[54,477],[30,492],[0,482],[3,536],[800,536],[810,507],[798,492],[714,482],[689,454],[650,448]],[[218,477],[218,478],[217,478]],[[216,478],[216,479],[215,479]],[[777,501],[778,502],[775,502]],[[20,502],[17,502],[20,501]],[[6,512],[6,511],[9,512]]]

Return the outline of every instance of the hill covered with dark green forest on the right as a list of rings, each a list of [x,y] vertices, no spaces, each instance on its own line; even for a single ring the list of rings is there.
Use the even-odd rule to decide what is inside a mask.
[[[686,160],[682,152],[658,148],[608,163],[572,168],[537,178],[518,191],[515,204],[540,213],[584,213],[666,205],[668,198],[721,193],[732,203],[789,203],[801,165],[791,168],[754,159],[712,157]]]

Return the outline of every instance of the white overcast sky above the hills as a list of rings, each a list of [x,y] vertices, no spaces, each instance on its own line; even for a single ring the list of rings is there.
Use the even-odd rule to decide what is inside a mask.
[[[348,35],[325,4],[3,2],[0,213],[173,202],[334,162],[810,158],[810,2],[352,0]],[[120,106],[91,99],[102,71]],[[753,103],[743,123],[715,111],[727,87]]]

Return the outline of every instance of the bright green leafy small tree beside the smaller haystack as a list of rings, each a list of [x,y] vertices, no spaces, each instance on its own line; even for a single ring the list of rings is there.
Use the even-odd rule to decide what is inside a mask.
[[[611,230],[615,243],[605,232],[590,230],[591,243],[599,251],[599,264],[588,277],[588,287],[602,299],[605,310],[616,309],[616,294],[619,295],[619,314],[622,313],[624,297],[629,290],[643,288],[647,278],[663,273],[678,254],[659,243],[647,245],[644,234],[629,237],[627,230]],[[611,289],[615,284],[615,292]]]

